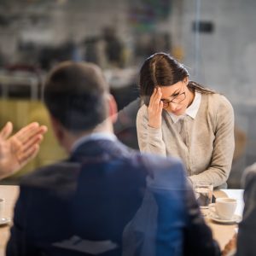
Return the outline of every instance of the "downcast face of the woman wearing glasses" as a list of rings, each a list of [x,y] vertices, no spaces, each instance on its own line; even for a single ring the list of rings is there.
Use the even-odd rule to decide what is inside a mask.
[[[164,103],[166,111],[175,115],[182,115],[191,104],[191,92],[188,89],[189,79],[183,79],[170,86],[160,86],[162,96],[161,101]]]

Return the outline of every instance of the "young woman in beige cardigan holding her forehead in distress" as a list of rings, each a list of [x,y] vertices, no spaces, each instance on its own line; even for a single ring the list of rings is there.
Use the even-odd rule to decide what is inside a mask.
[[[143,63],[140,93],[144,102],[137,113],[141,151],[177,156],[191,183],[224,187],[235,148],[230,102],[189,81],[183,65],[165,53]]]

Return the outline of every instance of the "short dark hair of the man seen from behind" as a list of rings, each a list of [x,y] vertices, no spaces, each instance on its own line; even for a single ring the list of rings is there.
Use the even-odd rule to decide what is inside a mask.
[[[68,131],[90,131],[107,118],[108,84],[100,67],[65,61],[49,73],[44,102]]]

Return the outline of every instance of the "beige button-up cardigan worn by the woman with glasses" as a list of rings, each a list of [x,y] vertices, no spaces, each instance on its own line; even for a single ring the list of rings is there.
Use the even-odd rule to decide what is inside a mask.
[[[192,183],[207,181],[214,187],[226,182],[234,154],[234,111],[230,102],[219,94],[202,94],[195,119],[183,122],[188,146],[176,131],[166,110],[160,129],[148,126],[148,109],[137,113],[137,137],[141,151],[172,155],[183,160]]]

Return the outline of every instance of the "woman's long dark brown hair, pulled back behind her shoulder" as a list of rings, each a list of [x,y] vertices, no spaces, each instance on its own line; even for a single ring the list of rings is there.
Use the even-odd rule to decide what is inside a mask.
[[[170,86],[189,77],[188,70],[171,55],[156,53],[148,57],[140,70],[140,95],[146,105],[157,86]],[[189,81],[188,88],[201,93],[215,93],[201,84]]]

